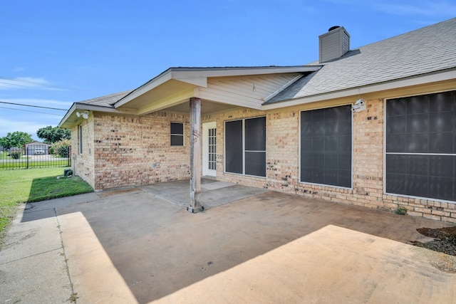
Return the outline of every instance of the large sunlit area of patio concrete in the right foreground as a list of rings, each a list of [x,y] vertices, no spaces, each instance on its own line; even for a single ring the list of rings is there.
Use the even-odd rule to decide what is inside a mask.
[[[442,256],[330,225],[154,303],[445,303]]]

